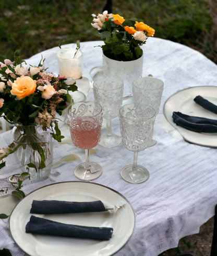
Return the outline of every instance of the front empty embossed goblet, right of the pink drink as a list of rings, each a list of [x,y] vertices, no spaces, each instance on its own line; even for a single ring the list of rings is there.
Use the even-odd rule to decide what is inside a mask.
[[[138,152],[146,149],[153,136],[155,111],[147,104],[126,104],[119,110],[120,133],[123,145],[134,152],[132,165],[125,166],[120,175],[129,183],[142,183],[149,178],[149,171],[137,165]]]

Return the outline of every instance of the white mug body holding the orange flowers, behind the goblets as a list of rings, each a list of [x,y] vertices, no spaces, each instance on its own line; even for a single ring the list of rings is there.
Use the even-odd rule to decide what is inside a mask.
[[[103,73],[105,77],[123,79],[123,97],[132,96],[132,83],[142,77],[143,55],[134,61],[116,61],[103,54]]]

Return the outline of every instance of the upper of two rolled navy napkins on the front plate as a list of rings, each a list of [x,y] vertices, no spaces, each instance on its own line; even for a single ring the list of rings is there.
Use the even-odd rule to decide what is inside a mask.
[[[61,214],[61,213],[92,213],[105,212],[104,204],[99,201],[93,202],[67,202],[57,200],[33,200],[30,213],[38,214]]]

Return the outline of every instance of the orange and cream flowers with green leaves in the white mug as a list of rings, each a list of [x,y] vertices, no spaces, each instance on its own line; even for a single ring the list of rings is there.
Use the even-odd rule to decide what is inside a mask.
[[[105,56],[117,61],[137,60],[142,56],[140,45],[153,37],[155,30],[143,22],[137,22],[118,14],[92,14],[91,25],[98,29],[104,45],[101,46]]]

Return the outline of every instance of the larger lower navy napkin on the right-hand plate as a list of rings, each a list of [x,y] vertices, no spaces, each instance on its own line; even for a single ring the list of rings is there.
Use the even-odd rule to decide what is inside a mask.
[[[173,112],[172,118],[174,123],[190,131],[203,133],[217,132],[217,120],[214,119],[191,117],[181,112]]]

